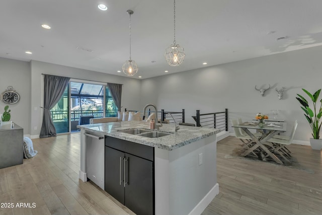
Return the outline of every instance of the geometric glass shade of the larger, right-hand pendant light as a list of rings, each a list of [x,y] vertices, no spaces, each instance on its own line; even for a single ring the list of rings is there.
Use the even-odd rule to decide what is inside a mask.
[[[171,66],[180,65],[185,59],[185,56],[184,48],[178,44],[172,44],[166,49],[166,61]]]

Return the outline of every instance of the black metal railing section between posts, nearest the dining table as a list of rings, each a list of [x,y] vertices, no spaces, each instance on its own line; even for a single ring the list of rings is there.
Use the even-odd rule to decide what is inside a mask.
[[[228,131],[228,109],[223,112],[203,113],[196,111],[196,116],[192,116],[196,121],[197,127],[217,128],[221,131]]]

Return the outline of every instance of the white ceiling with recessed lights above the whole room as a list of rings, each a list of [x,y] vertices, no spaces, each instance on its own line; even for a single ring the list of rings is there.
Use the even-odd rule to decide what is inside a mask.
[[[145,79],[322,45],[321,8],[321,0],[177,0],[176,41],[186,58],[173,67],[164,58],[173,0],[1,0],[0,57],[125,76],[117,70],[129,59],[131,9],[133,78]]]

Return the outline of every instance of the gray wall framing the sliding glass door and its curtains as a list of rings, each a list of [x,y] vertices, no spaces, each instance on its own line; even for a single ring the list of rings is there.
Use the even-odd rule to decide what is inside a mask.
[[[123,108],[138,109],[140,80],[127,77],[114,76],[86,69],[73,68],[41,61],[31,61],[31,118],[30,134],[32,137],[39,135],[42,123],[43,106],[43,76],[41,74],[64,76],[74,79],[91,80],[104,83],[123,84],[122,105]],[[37,129],[35,129],[37,128]]]

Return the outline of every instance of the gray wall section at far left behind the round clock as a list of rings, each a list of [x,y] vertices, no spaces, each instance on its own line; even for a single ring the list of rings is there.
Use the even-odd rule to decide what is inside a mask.
[[[30,66],[29,62],[0,57],[0,94],[8,86],[14,87],[20,95],[20,101],[9,105],[11,120],[24,128],[24,134],[29,134],[30,122]],[[0,102],[0,113],[6,104]]]

